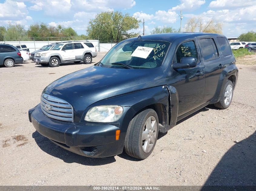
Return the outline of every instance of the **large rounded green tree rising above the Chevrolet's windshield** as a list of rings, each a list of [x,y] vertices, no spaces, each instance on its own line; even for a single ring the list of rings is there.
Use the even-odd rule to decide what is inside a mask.
[[[95,19],[89,21],[87,27],[88,37],[92,39],[104,39],[120,41],[138,36],[138,33],[130,32],[139,28],[140,21],[130,14],[122,14],[120,11],[108,11],[97,14]]]

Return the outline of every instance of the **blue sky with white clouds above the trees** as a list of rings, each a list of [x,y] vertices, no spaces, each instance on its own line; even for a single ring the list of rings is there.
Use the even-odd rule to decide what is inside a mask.
[[[145,19],[145,33],[154,27],[180,27],[188,19],[201,17],[223,24],[227,37],[238,37],[250,30],[256,32],[256,0],[0,0],[0,26],[46,23],[72,27],[78,34],[86,34],[90,19],[102,11],[121,11]],[[143,32],[143,25],[136,32]]]

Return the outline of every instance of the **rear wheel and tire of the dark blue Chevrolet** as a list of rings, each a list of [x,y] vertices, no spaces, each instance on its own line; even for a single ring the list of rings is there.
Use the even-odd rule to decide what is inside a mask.
[[[218,103],[214,103],[214,106],[220,109],[227,109],[233,98],[233,89],[233,83],[228,80],[222,90],[220,101]]]

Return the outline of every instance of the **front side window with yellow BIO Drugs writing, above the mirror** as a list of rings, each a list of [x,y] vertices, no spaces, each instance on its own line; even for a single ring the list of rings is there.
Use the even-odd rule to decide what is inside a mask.
[[[172,63],[181,63],[181,58],[184,58],[184,57],[191,57],[191,58],[193,57],[198,62],[198,54],[197,54],[194,41],[191,40],[191,41],[182,43],[178,47]]]

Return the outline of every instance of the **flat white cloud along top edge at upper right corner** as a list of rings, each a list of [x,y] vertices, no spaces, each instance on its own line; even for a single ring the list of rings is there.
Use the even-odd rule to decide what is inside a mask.
[[[241,1],[241,0],[216,0],[212,1],[209,4],[210,8],[228,8],[231,7],[244,7],[244,6],[252,6],[255,5],[254,0],[247,0],[247,1]]]

